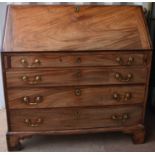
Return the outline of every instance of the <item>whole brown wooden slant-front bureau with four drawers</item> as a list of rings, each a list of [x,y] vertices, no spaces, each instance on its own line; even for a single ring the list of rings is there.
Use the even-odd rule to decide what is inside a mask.
[[[143,143],[151,50],[139,6],[9,6],[8,149],[32,135],[105,131]]]

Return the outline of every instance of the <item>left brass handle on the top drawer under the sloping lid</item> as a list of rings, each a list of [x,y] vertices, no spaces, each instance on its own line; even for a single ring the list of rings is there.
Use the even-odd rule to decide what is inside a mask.
[[[36,67],[36,66],[39,66],[41,64],[41,61],[37,58],[34,59],[34,61],[31,65],[29,65],[28,61],[25,58],[22,58],[20,60],[20,62],[24,67],[27,67],[27,68]]]

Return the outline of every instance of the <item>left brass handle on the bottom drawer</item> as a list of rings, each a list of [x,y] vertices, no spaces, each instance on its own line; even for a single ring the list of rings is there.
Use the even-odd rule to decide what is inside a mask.
[[[39,125],[43,124],[42,118],[37,118],[34,121],[32,121],[29,118],[24,119],[24,123],[27,124],[29,127],[38,127]]]

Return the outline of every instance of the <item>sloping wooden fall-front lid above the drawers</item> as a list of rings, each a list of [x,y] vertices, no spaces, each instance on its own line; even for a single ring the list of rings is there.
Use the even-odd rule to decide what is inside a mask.
[[[139,6],[8,7],[3,51],[150,50]]]

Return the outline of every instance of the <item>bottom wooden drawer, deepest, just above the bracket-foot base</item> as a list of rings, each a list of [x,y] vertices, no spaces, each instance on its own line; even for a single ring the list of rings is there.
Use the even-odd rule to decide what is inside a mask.
[[[50,131],[137,125],[139,106],[113,108],[56,108],[10,111],[11,131]]]

